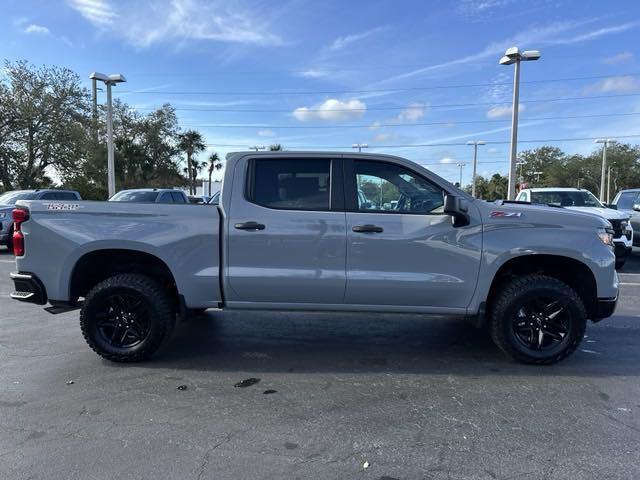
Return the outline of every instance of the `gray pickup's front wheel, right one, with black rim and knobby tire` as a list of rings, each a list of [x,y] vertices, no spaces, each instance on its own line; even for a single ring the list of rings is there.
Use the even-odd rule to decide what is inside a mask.
[[[493,341],[522,363],[550,365],[571,355],[586,324],[587,313],[575,290],[545,275],[507,281],[489,311]]]

